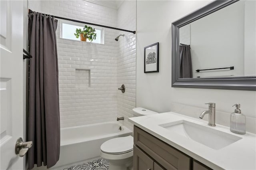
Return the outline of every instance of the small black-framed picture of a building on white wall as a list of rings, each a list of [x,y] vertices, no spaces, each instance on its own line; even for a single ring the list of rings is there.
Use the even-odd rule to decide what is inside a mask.
[[[159,42],[144,47],[144,73],[159,72]]]

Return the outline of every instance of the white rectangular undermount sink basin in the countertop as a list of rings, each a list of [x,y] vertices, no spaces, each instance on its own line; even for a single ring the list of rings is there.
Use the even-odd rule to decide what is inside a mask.
[[[224,148],[225,146],[242,139],[239,136],[228,134],[220,130],[215,130],[214,128],[205,127],[185,120],[165,123],[159,126],[215,150]]]

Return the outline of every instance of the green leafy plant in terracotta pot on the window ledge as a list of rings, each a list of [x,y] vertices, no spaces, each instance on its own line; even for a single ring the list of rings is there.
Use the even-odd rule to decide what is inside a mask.
[[[86,39],[88,38],[88,40],[92,42],[92,40],[96,39],[97,34],[95,33],[94,28],[85,25],[83,30],[81,28],[76,28],[76,33],[74,33],[74,35],[76,36],[76,38],[80,37],[81,41],[86,42]]]

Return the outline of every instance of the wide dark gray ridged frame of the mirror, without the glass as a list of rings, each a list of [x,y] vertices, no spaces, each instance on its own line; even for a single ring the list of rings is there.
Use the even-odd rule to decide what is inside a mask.
[[[213,1],[172,23],[172,87],[256,91],[256,76],[178,79],[179,28],[237,1]]]

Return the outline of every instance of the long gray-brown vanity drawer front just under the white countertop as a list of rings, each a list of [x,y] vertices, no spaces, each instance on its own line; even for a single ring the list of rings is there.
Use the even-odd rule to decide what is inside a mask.
[[[168,170],[192,169],[192,158],[136,126],[134,144]]]

